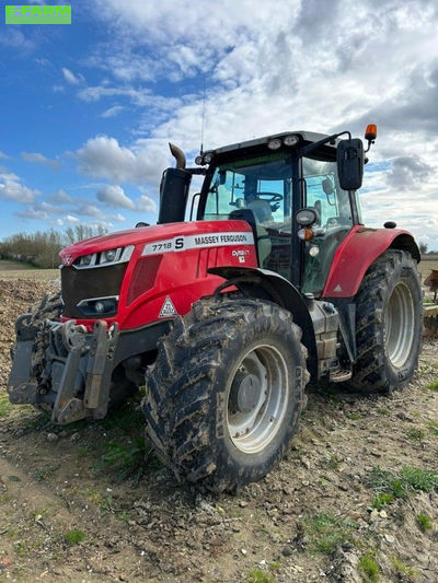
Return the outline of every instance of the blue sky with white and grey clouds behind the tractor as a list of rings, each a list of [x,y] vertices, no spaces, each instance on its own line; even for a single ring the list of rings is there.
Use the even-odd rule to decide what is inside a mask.
[[[88,0],[71,13],[5,25],[0,4],[0,238],[154,223],[168,142],[191,163],[204,107],[205,149],[377,124],[365,223],[395,221],[438,249],[435,0]]]

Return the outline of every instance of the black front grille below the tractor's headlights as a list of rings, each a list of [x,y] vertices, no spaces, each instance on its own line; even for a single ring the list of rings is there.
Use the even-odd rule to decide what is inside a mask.
[[[95,269],[62,267],[61,290],[65,304],[62,316],[85,319],[87,316],[77,307],[79,302],[91,298],[119,295],[127,265],[125,263]]]

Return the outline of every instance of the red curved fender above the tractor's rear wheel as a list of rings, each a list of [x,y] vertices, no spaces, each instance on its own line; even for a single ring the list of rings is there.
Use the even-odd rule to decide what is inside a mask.
[[[328,271],[322,298],[351,298],[356,295],[364,276],[379,255],[400,237],[401,248],[416,248],[411,233],[401,229],[368,229],[356,225],[336,249]],[[395,248],[397,245],[393,245]]]

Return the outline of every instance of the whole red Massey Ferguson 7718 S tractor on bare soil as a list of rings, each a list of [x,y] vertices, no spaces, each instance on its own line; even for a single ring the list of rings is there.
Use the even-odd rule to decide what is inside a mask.
[[[158,224],[64,249],[61,293],[16,320],[11,403],[65,424],[146,386],[158,457],[233,491],[281,459],[309,383],[402,387],[420,350],[419,252],[393,222],[362,224],[376,126],[365,138],[279,133],[195,168],[171,145]]]

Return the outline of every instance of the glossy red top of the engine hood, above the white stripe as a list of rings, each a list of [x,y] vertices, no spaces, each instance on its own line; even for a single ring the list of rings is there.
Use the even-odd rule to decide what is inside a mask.
[[[245,221],[195,221],[191,223],[168,223],[152,226],[141,226],[118,231],[99,237],[80,241],[69,245],[59,254],[62,265],[70,266],[78,257],[93,253],[105,252],[128,245],[140,245],[155,241],[170,240],[176,236],[201,235],[229,232],[251,233],[251,226]]]

